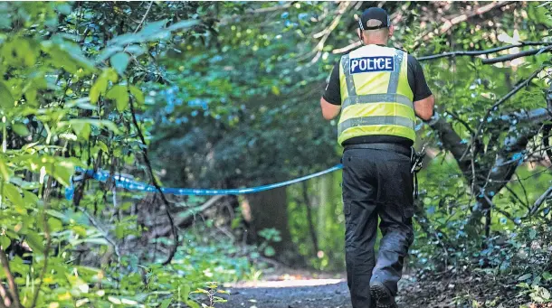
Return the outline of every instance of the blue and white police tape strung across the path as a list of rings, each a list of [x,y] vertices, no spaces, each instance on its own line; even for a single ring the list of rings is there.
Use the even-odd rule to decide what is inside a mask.
[[[262,185],[257,187],[250,187],[250,188],[235,188],[235,189],[227,189],[227,190],[212,190],[212,189],[199,189],[199,188],[161,188],[161,191],[167,194],[174,194],[174,195],[180,195],[180,196],[215,196],[215,195],[227,195],[227,194],[247,194],[247,193],[255,193],[260,191],[269,191],[275,188],[288,186],[294,183],[307,181],[312,178],[319,177],[320,175],[333,173],[335,171],[338,171],[339,169],[342,169],[343,165],[341,163],[336,164],[335,166],[328,168],[324,171],[321,171],[319,173],[312,173],[309,175],[302,176],[300,178],[292,179],[285,182],[277,182],[273,184],[268,185]],[[100,182],[107,182],[111,175],[108,172],[105,171],[98,171],[94,172],[93,170],[82,170],[81,168],[77,169],[78,172],[84,173],[91,178],[100,181]],[[79,177],[74,177],[72,182],[78,182],[81,181],[83,175]],[[156,187],[153,185],[149,185],[144,182],[136,182],[132,179],[129,179],[128,177],[122,176],[122,175],[113,175],[113,180],[115,181],[116,187],[128,190],[128,191],[146,191],[146,192],[154,192],[157,191]],[[74,195],[74,187],[72,185],[65,189],[65,198],[67,200],[71,200]]]

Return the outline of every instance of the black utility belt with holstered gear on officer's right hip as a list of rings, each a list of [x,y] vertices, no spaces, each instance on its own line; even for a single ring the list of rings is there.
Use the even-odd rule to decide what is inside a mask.
[[[425,156],[425,145],[420,152],[414,150],[414,146],[406,147],[404,145],[395,145],[395,144],[359,144],[359,145],[345,145],[344,151],[348,149],[371,149],[371,150],[382,150],[382,151],[391,151],[397,154],[403,154],[410,157],[410,173],[414,174],[414,198],[418,199],[418,175],[417,173],[422,170],[424,166],[424,156]]]

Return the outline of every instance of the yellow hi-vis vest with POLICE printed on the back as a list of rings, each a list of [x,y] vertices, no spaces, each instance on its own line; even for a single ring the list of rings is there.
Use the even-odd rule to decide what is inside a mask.
[[[366,45],[341,57],[338,143],[362,135],[415,140],[414,94],[405,51]]]

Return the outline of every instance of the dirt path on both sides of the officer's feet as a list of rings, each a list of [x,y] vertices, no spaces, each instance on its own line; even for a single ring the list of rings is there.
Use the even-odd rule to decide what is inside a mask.
[[[351,308],[343,275],[292,274],[267,275],[256,283],[224,285],[231,295],[217,308]],[[472,273],[454,278],[424,282],[404,276],[396,300],[399,308],[502,307],[552,308],[552,303],[528,303],[519,290],[493,283],[492,275]],[[514,284],[515,285],[515,284]]]

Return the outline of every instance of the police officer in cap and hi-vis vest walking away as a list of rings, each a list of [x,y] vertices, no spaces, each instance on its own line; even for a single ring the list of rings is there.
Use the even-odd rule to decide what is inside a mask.
[[[367,9],[357,35],[364,46],[341,58],[320,99],[337,117],[343,145],[347,285],[354,308],[396,307],[397,283],[414,240],[411,154],[416,116],[433,116],[434,98],[416,59],[386,47],[393,25]],[[382,231],[377,261],[377,222]]]

